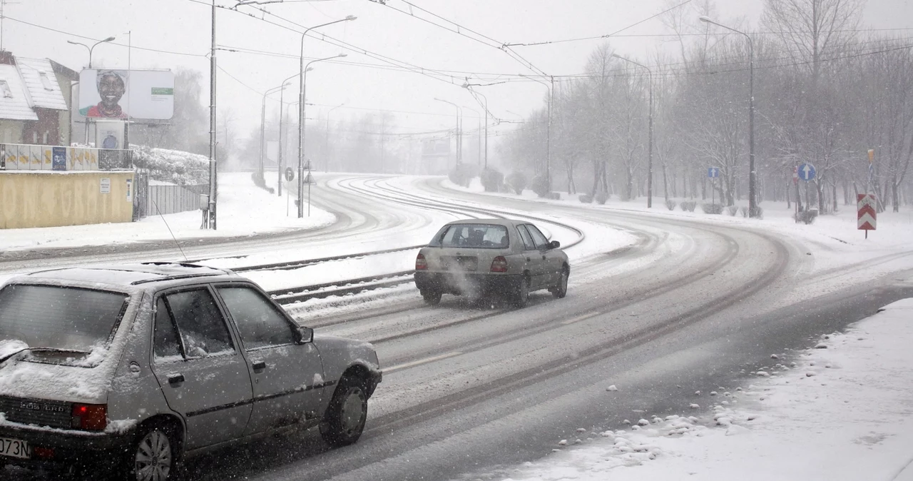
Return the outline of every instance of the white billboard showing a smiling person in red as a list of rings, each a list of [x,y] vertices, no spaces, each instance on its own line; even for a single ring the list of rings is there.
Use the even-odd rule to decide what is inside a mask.
[[[79,86],[82,117],[168,120],[174,114],[171,70],[86,69]]]

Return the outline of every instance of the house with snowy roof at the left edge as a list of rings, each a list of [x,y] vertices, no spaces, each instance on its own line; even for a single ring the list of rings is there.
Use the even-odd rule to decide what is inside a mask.
[[[78,79],[48,58],[0,51],[0,142],[69,145],[70,86]]]

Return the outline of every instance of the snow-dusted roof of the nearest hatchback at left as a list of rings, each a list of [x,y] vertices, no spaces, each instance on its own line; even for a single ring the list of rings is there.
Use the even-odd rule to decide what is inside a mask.
[[[196,277],[226,277],[225,280],[240,278],[229,270],[215,267],[183,263],[143,263],[48,269],[16,277],[10,282],[56,281],[80,285],[104,284],[129,289],[143,284]]]

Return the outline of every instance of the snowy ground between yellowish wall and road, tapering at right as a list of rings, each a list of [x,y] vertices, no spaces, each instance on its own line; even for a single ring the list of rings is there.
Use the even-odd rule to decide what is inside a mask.
[[[272,183],[270,182],[272,179]],[[276,173],[267,173],[269,185]],[[0,251],[37,247],[110,246],[142,241],[197,237],[239,237],[330,225],[335,216],[311,206],[310,217],[299,219],[293,201],[254,185],[250,173],[219,175],[218,230],[200,229],[200,211],[153,215],[140,222],[4,229]],[[288,214],[287,214],[288,212]],[[164,218],[163,218],[164,217]]]

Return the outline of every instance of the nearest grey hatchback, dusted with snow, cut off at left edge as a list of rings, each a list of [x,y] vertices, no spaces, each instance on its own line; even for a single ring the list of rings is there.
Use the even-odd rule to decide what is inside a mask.
[[[280,429],[362,434],[373,346],[315,336],[245,277],[191,264],[47,270],[0,288],[0,471],[184,457]]]

